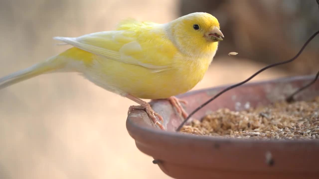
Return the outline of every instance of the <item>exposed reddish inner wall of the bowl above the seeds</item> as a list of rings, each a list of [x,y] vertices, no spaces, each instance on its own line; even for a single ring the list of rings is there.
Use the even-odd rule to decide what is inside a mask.
[[[199,120],[204,115],[220,108],[228,108],[232,111],[241,111],[250,107],[267,105],[278,100],[284,100],[297,89],[308,84],[313,79],[314,76],[305,76],[245,84],[220,95],[211,103],[204,106],[204,108],[200,111],[195,113],[192,118]],[[185,110],[190,113],[226,87],[228,86],[192,91],[178,97],[185,99],[188,102],[187,106],[185,106]],[[308,89],[297,94],[295,99],[310,100],[318,95],[319,82],[317,81]],[[163,125],[166,127],[167,131],[175,131],[183,121],[183,119],[176,114],[174,108],[172,108],[168,101],[154,101],[151,104],[154,111],[163,116]]]

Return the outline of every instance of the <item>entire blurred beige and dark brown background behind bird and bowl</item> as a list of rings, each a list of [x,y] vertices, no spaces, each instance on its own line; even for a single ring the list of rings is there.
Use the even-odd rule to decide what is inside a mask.
[[[0,76],[68,48],[55,46],[54,36],[113,30],[128,17],[166,23],[196,11],[217,17],[225,38],[193,90],[239,82],[292,58],[319,28],[315,0],[1,0]],[[318,45],[315,38],[296,61],[252,81],[316,73]],[[169,178],[127,133],[130,105],[73,73],[1,90],[0,178]]]

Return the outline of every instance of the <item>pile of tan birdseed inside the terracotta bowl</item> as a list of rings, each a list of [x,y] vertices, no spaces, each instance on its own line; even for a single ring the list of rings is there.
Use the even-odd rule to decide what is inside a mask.
[[[275,104],[247,111],[219,109],[202,122],[193,120],[181,132],[226,138],[319,139],[319,97],[312,101]]]

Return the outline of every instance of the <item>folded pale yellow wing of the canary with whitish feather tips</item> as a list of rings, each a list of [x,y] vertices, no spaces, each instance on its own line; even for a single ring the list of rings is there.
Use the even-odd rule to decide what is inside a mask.
[[[143,66],[155,72],[168,68],[171,62],[169,59],[172,59],[172,52],[167,54],[171,50],[168,40],[122,28],[123,30],[96,32],[75,38],[54,39],[108,59]]]

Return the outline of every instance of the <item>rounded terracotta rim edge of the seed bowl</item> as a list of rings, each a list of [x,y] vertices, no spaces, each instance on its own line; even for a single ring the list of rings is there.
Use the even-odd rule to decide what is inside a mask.
[[[256,84],[265,84],[270,82],[287,82],[287,81],[294,81],[294,80],[312,80],[314,79],[315,75],[304,75],[304,76],[288,76],[288,77],[281,77],[276,79],[270,79],[270,80],[262,80],[262,81],[256,81],[256,82],[249,82],[246,84],[243,84],[241,86],[250,86],[250,85],[256,85]],[[185,97],[190,96],[196,93],[201,93],[207,89],[223,89],[228,87],[229,85],[220,85],[217,87],[212,88],[204,88],[194,91],[189,91],[187,93],[178,95],[176,97]],[[240,88],[241,86],[237,87]],[[156,102],[155,102],[156,103]],[[134,110],[132,111],[127,119],[126,119],[126,127],[129,132],[129,134],[137,140],[137,138],[143,137],[145,135],[152,135],[156,137],[163,137],[171,140],[189,140],[189,141],[201,141],[201,142],[210,142],[210,143],[233,143],[233,144],[273,144],[273,145],[304,145],[304,144],[312,144],[312,145],[318,145],[319,146],[319,140],[251,140],[251,139],[235,139],[235,138],[218,138],[218,137],[211,137],[211,136],[200,136],[200,135],[193,135],[188,133],[181,133],[181,132],[172,132],[172,131],[163,131],[158,128],[150,128],[145,127],[142,125],[138,125],[135,122],[134,117],[136,114],[144,112],[142,110]]]

